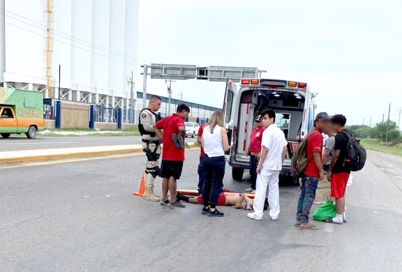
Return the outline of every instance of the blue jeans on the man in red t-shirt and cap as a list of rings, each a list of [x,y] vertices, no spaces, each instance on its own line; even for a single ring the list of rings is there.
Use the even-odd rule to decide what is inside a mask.
[[[308,224],[311,205],[315,199],[315,190],[317,190],[318,179],[314,176],[303,176],[301,178],[301,192],[299,203],[297,204],[296,220],[303,224]]]

